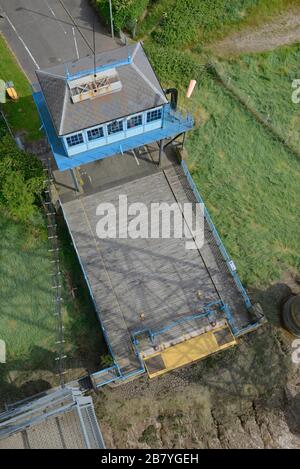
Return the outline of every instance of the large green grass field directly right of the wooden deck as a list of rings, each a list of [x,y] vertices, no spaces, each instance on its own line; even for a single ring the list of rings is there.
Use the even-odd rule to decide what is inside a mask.
[[[194,105],[202,124],[187,140],[189,166],[242,280],[262,286],[300,271],[299,158],[212,78]]]

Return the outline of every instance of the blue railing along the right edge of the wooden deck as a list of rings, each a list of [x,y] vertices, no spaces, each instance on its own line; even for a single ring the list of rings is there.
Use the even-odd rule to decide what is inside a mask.
[[[232,267],[233,261],[230,258],[230,256],[228,255],[228,252],[226,251],[226,248],[225,248],[225,246],[224,246],[224,244],[223,244],[223,242],[220,238],[220,235],[219,235],[219,233],[218,233],[218,231],[217,231],[217,229],[216,229],[216,227],[215,227],[215,225],[214,225],[214,223],[213,223],[213,221],[212,221],[212,219],[209,215],[209,212],[208,212],[208,210],[207,210],[207,208],[206,208],[206,206],[203,202],[203,199],[202,199],[201,195],[199,194],[198,189],[196,187],[196,184],[194,183],[194,180],[193,180],[193,178],[192,178],[192,176],[191,176],[191,174],[190,174],[190,172],[187,168],[187,165],[184,161],[181,162],[181,167],[184,171],[184,174],[186,175],[188,183],[189,183],[189,185],[190,185],[190,187],[191,187],[197,201],[199,203],[203,204],[203,206],[204,206],[205,219],[208,223],[209,228],[211,229],[212,235],[215,238],[217,246],[218,246],[218,248],[219,248],[219,250],[220,250],[220,252],[221,252],[221,254],[222,254],[222,256],[225,260],[225,262],[226,262],[227,268],[228,268],[228,270],[229,270],[229,272],[230,272],[230,274],[231,274],[231,276],[232,276],[232,278],[233,278],[239,292],[243,296],[243,299],[245,301],[245,305],[246,305],[247,308],[251,308],[252,305],[251,305],[250,298],[247,295],[247,292],[246,292],[245,288],[243,287],[242,282],[241,282],[236,270],[234,270],[233,267]]]

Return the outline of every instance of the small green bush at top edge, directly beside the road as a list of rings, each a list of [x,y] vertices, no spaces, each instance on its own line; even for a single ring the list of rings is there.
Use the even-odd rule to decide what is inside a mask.
[[[113,18],[114,28],[120,30],[127,28],[132,30],[135,23],[146,10],[150,0],[113,0]],[[93,0],[99,13],[107,23],[110,22],[109,2],[108,0]]]

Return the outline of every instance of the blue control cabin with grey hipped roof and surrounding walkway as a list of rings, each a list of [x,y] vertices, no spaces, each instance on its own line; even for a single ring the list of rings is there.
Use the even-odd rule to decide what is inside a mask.
[[[141,43],[36,74],[34,99],[60,170],[193,127],[170,105]]]

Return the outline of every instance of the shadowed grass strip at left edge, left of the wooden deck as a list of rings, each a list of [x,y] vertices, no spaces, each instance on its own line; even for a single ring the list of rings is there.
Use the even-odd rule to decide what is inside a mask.
[[[53,375],[57,338],[43,220],[37,219],[36,227],[28,229],[3,209],[0,213],[0,331],[7,349],[0,387],[1,397],[7,397],[22,395],[18,387],[41,370],[44,376]]]

